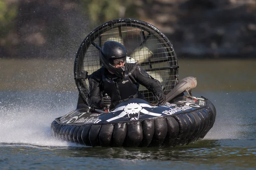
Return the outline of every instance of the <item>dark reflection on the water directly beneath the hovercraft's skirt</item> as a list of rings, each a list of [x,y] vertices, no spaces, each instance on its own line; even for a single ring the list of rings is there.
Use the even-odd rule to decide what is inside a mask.
[[[189,146],[171,148],[102,148],[102,147],[74,147],[69,148],[68,155],[72,157],[98,157],[98,158],[121,158],[134,160],[172,160],[186,161],[193,159],[195,155],[206,156],[206,150],[218,146],[216,140],[204,140]],[[204,148],[201,148],[204,146]],[[61,153],[63,154],[63,153]],[[66,154],[66,153],[65,153]]]

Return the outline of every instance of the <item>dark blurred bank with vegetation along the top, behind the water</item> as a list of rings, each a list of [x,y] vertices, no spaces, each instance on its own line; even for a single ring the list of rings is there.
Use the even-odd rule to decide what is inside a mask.
[[[75,57],[96,26],[136,18],[179,58],[254,58],[256,0],[0,0],[1,58]]]

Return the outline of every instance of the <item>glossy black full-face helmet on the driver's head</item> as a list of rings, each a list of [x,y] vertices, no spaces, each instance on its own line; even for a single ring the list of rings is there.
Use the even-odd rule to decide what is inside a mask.
[[[116,74],[118,77],[123,77],[125,65],[123,67],[116,68],[115,64],[126,62],[126,54],[126,49],[122,44],[116,41],[107,41],[104,43],[100,51],[99,59],[105,68]]]

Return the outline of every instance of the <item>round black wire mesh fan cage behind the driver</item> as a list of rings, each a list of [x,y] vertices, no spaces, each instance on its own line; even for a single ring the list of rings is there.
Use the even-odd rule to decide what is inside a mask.
[[[79,94],[88,103],[87,76],[102,67],[99,49],[106,41],[116,41],[125,46],[127,62],[138,62],[148,74],[163,85],[168,94],[178,81],[178,63],[174,48],[168,38],[156,27],[141,20],[123,18],[111,20],[95,28],[81,43],[74,63],[74,77]],[[144,86],[140,93],[151,103],[153,94]]]

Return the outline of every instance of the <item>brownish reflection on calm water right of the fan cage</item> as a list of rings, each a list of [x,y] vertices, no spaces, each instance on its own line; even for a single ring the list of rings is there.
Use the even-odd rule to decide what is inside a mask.
[[[256,91],[256,60],[209,59],[178,60],[179,79],[193,76],[193,91]]]

